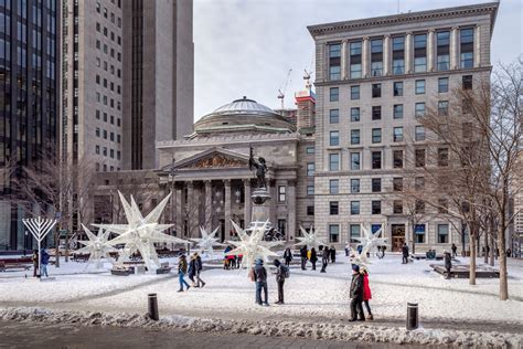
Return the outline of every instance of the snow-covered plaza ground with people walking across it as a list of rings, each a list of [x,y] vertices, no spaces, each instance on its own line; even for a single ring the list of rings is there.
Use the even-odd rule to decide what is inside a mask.
[[[466,258],[458,258],[467,263]],[[161,262],[178,263],[177,258]],[[350,318],[349,260],[338,254],[325,274],[319,268],[291,266],[285,283],[286,304],[260,307],[245,269],[223,269],[204,261],[203,288],[179,289],[175,273],[115,276],[108,269],[85,272],[85,263],[50,267],[55,279],[38,282],[30,272],[0,274],[0,318],[76,321],[117,326],[185,327],[193,330],[245,331],[276,336],[413,343],[468,343],[517,347],[523,326],[523,261],[509,260],[511,299],[498,298],[499,281],[445,279],[429,264],[402,265],[399,255],[371,258],[371,307],[374,321],[360,325]],[[28,274],[28,277],[25,277]],[[277,287],[269,276],[269,302]],[[147,313],[148,294],[158,294],[160,324]],[[405,330],[407,303],[418,303],[421,328]],[[93,315],[95,314],[95,315]],[[93,320],[93,316],[96,320]],[[285,326],[282,326],[286,324]]]

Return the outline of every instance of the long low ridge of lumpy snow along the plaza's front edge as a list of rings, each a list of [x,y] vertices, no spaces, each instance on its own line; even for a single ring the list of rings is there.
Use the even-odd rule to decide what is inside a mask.
[[[343,325],[324,322],[298,322],[275,320],[224,320],[183,316],[150,320],[138,314],[104,314],[41,308],[0,309],[0,319],[14,321],[39,321],[47,324],[75,324],[81,326],[118,326],[156,329],[184,329],[191,331],[232,332],[270,337],[300,337],[340,341],[394,342],[398,345],[446,345],[489,348],[521,348],[523,336],[502,332],[474,332],[459,330],[408,331],[403,328]]]

